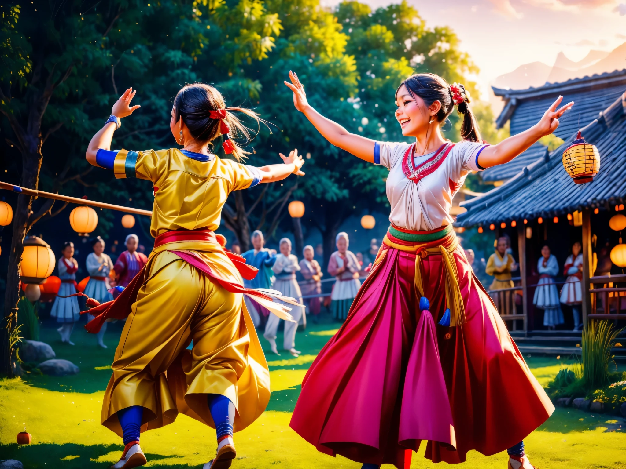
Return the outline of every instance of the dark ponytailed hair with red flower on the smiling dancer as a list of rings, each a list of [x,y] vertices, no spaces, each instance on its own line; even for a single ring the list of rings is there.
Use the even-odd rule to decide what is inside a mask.
[[[406,86],[406,89],[408,89],[413,98],[415,96],[419,96],[419,98],[423,99],[427,107],[435,101],[439,101],[439,103],[441,103],[441,108],[436,115],[439,123],[443,123],[448,116],[452,114],[454,106],[456,105],[458,113],[463,114],[461,137],[464,140],[471,142],[483,141],[480,137],[480,131],[478,129],[476,118],[468,106],[469,91],[466,91],[462,84],[454,83],[452,85],[459,89],[459,94],[461,95],[461,98],[463,98],[463,101],[459,104],[454,103],[454,93],[448,82],[433,73],[418,73],[409,76],[409,78],[400,84],[400,86],[403,85]],[[398,86],[398,89],[400,89],[400,86]],[[398,89],[396,89],[396,94],[398,94]]]

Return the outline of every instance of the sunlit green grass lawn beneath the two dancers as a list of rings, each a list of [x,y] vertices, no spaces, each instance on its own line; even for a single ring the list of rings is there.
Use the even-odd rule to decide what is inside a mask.
[[[72,335],[75,346],[64,345],[52,326],[42,327],[41,340],[53,346],[58,358],[80,366],[81,372],[59,378],[30,373],[22,380],[0,381],[0,460],[18,459],[28,469],[108,468],[120,457],[122,446],[118,436],[100,425],[100,409],[121,324],[110,325],[105,336],[107,350],[98,348],[95,337],[82,328],[76,328]],[[336,324],[309,325],[306,332],[299,332],[299,358],[266,351],[272,398],[259,420],[235,434],[238,453],[233,468],[360,467],[341,456],[332,458],[317,452],[289,428],[302,378],[336,328]],[[277,341],[282,343],[282,338]],[[267,346],[263,339],[262,343]],[[527,360],[543,385],[568,364],[556,358]],[[18,446],[15,438],[24,424],[33,435],[33,444]],[[626,421],[621,418],[557,408],[550,420],[526,438],[526,449],[540,469],[626,469],[624,429]],[[215,431],[179,415],[172,425],[143,433],[141,446],[148,456],[148,467],[202,468],[215,455]],[[423,458],[424,447],[414,455],[411,468],[434,466]],[[506,453],[483,456],[472,451],[464,466],[504,469]]]

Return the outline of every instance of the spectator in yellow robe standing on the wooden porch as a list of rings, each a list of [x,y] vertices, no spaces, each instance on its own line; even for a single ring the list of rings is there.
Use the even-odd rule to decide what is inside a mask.
[[[487,275],[494,276],[489,290],[500,290],[500,288],[515,286],[513,280],[511,280],[511,271],[517,270],[518,266],[513,256],[506,252],[509,245],[509,239],[506,236],[500,236],[495,252],[489,256],[485,271]],[[501,315],[513,314],[513,308],[515,308],[513,303],[514,294],[514,290],[509,290],[500,291],[492,296],[493,302],[496,304],[496,308],[498,308],[498,313]]]

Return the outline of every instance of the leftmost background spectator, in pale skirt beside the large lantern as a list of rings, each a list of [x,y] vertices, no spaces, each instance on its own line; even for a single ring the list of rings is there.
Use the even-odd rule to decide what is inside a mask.
[[[61,326],[57,329],[59,335],[61,335],[61,342],[74,345],[73,341],[69,340],[69,337],[74,329],[74,323],[80,319],[78,298],[70,296],[76,293],[76,271],[78,270],[78,262],[74,259],[74,243],[70,241],[64,243],[61,254],[61,258],[56,263],[61,286],[56,298],[54,298],[50,316],[56,318],[56,322],[61,323]]]

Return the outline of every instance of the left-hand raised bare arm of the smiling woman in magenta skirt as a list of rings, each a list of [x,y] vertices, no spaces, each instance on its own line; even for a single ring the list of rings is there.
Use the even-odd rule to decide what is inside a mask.
[[[291,83],[285,81],[285,85],[294,92],[295,108],[307,116],[310,123],[315,126],[317,131],[321,133],[324,138],[334,146],[338,146],[358,158],[369,161],[369,163],[374,163],[374,140],[349,133],[341,125],[322,116],[322,114],[313,109],[307,101],[304,86],[300,83],[298,76],[294,72],[289,71],[289,79]]]

